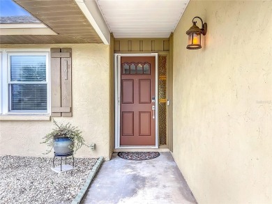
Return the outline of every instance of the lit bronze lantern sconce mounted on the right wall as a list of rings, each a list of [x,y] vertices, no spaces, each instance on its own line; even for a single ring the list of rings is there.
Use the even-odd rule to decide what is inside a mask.
[[[197,22],[194,22],[194,19],[198,18],[201,20],[202,22],[202,28],[199,29],[199,27],[196,25]],[[194,17],[192,19],[192,27],[190,27],[190,29],[188,31],[186,31],[186,34],[188,35],[188,45],[187,45],[187,49],[200,49],[201,47],[201,34],[203,36],[206,35],[207,32],[207,24],[204,23],[201,19],[201,17]]]

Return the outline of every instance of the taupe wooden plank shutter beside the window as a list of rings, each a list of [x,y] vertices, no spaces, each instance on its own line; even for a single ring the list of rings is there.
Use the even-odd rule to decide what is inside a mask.
[[[51,49],[51,116],[72,116],[72,49]]]

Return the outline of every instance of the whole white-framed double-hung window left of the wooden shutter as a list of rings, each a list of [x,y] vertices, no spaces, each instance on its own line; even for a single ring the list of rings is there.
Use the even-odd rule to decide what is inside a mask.
[[[3,113],[48,113],[48,53],[7,52],[5,57]]]

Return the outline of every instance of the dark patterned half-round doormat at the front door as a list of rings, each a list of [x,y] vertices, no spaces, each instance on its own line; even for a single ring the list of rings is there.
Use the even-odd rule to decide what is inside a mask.
[[[159,152],[118,152],[118,156],[122,159],[142,161],[155,159],[160,156]]]

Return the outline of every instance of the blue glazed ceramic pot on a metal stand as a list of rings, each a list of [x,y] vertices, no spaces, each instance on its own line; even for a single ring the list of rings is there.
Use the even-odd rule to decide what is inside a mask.
[[[69,148],[73,141],[68,137],[56,137],[54,139],[54,154],[56,156],[68,156],[73,154],[73,150]]]

